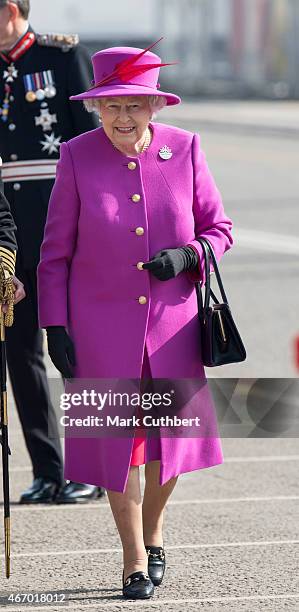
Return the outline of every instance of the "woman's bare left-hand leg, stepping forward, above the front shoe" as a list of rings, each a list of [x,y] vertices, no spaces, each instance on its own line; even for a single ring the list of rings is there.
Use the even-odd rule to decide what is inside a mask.
[[[124,493],[107,491],[107,495],[123,546],[124,578],[137,571],[147,573],[139,467],[132,466],[129,469]]]

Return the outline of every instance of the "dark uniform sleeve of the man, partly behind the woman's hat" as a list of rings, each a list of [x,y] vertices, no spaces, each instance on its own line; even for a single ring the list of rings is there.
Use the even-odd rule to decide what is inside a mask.
[[[89,89],[92,79],[92,66],[85,47],[78,45],[70,52],[68,69],[68,95],[75,96]],[[69,109],[73,123],[74,136],[89,132],[99,127],[96,113],[89,113],[83,102],[69,100]]]

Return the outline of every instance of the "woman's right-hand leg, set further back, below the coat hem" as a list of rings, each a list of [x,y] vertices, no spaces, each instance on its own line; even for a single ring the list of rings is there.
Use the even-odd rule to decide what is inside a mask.
[[[163,546],[163,511],[178,476],[159,485],[160,461],[145,465],[145,488],[142,504],[143,541],[145,546]]]

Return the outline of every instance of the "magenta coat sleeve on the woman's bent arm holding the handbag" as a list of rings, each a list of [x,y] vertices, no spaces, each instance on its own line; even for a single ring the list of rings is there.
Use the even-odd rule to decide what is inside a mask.
[[[221,195],[211,175],[205,154],[200,147],[200,137],[195,134],[192,143],[192,159],[194,173],[194,236],[207,238],[215,252],[217,262],[233,245],[232,221],[226,216]],[[192,282],[205,281],[204,257],[202,247],[197,240],[191,240],[198,253],[198,267],[187,272]]]

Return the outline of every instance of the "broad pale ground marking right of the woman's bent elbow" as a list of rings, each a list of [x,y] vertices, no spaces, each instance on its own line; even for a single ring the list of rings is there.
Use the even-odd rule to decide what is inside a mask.
[[[261,230],[234,227],[236,246],[249,247],[271,253],[299,255],[298,238],[294,235],[275,234]]]

